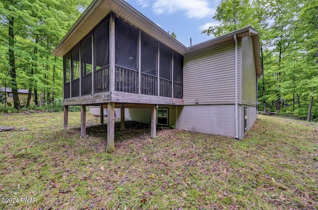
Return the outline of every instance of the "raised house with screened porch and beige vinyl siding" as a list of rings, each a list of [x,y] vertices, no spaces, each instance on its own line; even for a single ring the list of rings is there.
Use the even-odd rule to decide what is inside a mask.
[[[251,27],[185,47],[126,1],[94,0],[53,54],[64,58],[64,127],[68,105],[81,105],[82,137],[85,106],[107,108],[108,152],[115,112],[122,128],[125,118],[151,123],[152,137],[162,125],[241,139],[256,120]]]

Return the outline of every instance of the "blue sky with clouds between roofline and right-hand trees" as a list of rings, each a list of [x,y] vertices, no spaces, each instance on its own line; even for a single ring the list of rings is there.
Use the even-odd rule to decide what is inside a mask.
[[[164,31],[174,32],[185,46],[213,39],[201,34],[218,22],[212,17],[221,0],[126,0],[130,5],[158,24]]]

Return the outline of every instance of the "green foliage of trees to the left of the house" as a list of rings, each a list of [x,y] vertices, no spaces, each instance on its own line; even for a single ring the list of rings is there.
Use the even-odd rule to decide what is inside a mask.
[[[49,103],[63,94],[62,58],[52,51],[91,0],[23,0],[0,2],[0,87],[7,82],[8,20],[14,18],[16,81],[19,89],[35,90]],[[3,59],[2,59],[3,58]]]

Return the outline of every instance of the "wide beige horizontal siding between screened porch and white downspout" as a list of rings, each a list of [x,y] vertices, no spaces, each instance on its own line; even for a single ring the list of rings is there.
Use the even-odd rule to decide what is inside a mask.
[[[185,54],[183,99],[184,105],[235,103],[234,41]]]

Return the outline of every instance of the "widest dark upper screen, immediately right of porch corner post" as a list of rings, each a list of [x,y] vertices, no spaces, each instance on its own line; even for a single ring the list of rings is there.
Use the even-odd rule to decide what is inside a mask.
[[[116,18],[115,63],[137,70],[138,30]]]

